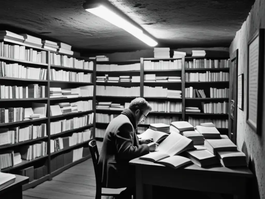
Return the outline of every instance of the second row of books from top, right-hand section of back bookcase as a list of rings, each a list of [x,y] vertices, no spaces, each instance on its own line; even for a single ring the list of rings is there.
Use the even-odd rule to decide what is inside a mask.
[[[185,73],[185,81],[191,82],[191,81],[202,81],[202,82],[208,82],[208,81],[229,81],[229,72],[210,72],[206,71],[206,73]]]

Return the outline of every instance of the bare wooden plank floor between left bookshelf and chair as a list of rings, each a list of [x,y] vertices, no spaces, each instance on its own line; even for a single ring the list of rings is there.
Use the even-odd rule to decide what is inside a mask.
[[[97,144],[100,151],[102,142]],[[96,181],[91,158],[65,170],[51,181],[23,191],[23,199],[95,199],[95,195]]]

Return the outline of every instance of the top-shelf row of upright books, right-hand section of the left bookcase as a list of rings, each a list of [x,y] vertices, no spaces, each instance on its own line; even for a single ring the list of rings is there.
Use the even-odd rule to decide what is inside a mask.
[[[78,68],[85,70],[93,70],[94,62],[80,60],[74,57],[68,57],[67,55],[60,55],[56,53],[50,54],[51,65],[64,66],[68,68]]]

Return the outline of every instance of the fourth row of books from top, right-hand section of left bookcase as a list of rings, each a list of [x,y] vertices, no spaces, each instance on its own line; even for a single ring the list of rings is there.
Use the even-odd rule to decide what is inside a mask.
[[[51,116],[90,111],[93,109],[93,100],[77,102],[61,102],[50,106]]]

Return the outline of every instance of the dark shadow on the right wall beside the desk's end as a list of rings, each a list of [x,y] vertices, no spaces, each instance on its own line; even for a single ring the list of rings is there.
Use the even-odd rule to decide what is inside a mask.
[[[259,199],[260,195],[259,195],[257,175],[256,175],[256,171],[255,171],[255,162],[254,162],[254,160],[251,159],[251,157],[248,154],[248,149],[247,149],[245,141],[242,145],[241,151],[246,154],[246,162],[248,163],[248,167],[249,167],[250,171],[252,171],[252,173],[254,175],[252,182],[249,183],[249,185],[248,185],[248,190],[247,190],[248,197],[247,198]]]

